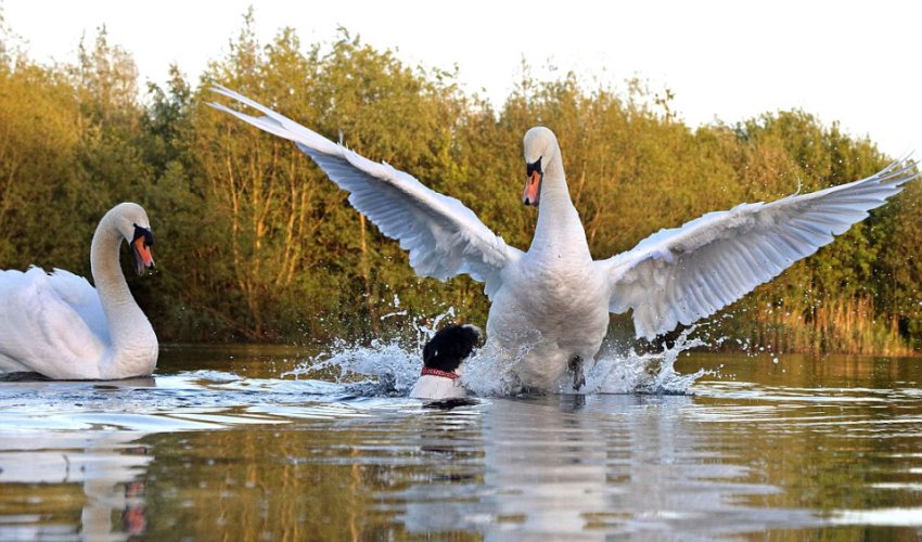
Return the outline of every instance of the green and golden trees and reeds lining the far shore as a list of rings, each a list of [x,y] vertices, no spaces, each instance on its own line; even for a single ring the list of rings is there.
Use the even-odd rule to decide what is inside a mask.
[[[260,43],[251,15],[201,81],[171,67],[169,83],[143,95],[131,55],[104,29],[74,64],[53,66],[22,54],[9,29],[0,38],[0,268],[89,275],[99,218],[117,202],[140,203],[161,272],[130,281],[163,340],[361,338],[404,322],[383,315],[448,307],[486,319],[482,285],[415,278],[397,244],[294,145],[208,107],[212,80],[458,197],[523,248],[536,215],[518,204],[521,138],[549,126],[596,257],[709,210],[850,181],[889,160],[802,111],[691,129],[668,90],[573,75],[538,81],[527,66],[497,109],[462,92],[457,74],[407,66],[345,30],[331,43],[305,46],[291,29]],[[912,183],[710,328],[730,347],[918,349],[921,191]]]

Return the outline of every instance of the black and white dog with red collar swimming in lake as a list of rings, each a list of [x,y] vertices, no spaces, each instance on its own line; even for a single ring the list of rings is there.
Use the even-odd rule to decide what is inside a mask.
[[[438,331],[423,347],[423,372],[410,397],[413,399],[459,399],[468,391],[461,385],[458,367],[481,341],[475,325],[449,325]]]

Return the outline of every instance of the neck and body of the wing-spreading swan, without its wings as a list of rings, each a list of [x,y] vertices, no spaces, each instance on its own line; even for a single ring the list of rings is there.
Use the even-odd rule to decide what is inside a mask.
[[[526,149],[548,134],[529,131]],[[543,151],[526,154],[527,164],[543,163],[538,224],[528,251],[503,268],[487,318],[489,340],[523,356],[518,378],[538,389],[551,389],[574,358],[593,359],[609,330],[607,296],[601,294],[607,283],[592,264],[562,162],[549,158]],[[522,348],[523,341],[530,344]]]

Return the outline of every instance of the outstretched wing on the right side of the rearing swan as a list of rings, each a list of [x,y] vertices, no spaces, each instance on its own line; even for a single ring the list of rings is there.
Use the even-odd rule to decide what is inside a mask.
[[[713,314],[831,243],[918,176],[911,160],[897,160],[848,184],[661,230],[596,262],[609,276],[609,309],[633,309],[635,332],[646,338]]]

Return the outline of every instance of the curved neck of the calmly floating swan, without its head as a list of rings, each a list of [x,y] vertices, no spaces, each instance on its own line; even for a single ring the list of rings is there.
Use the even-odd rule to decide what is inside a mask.
[[[114,349],[111,360],[113,363],[119,363],[120,358],[126,356],[129,359],[143,357],[151,349],[152,337],[156,348],[153,327],[131,296],[121,273],[118,254],[121,240],[123,235],[115,224],[115,218],[108,212],[97,227],[90,247],[93,281],[108,322],[111,346]]]

